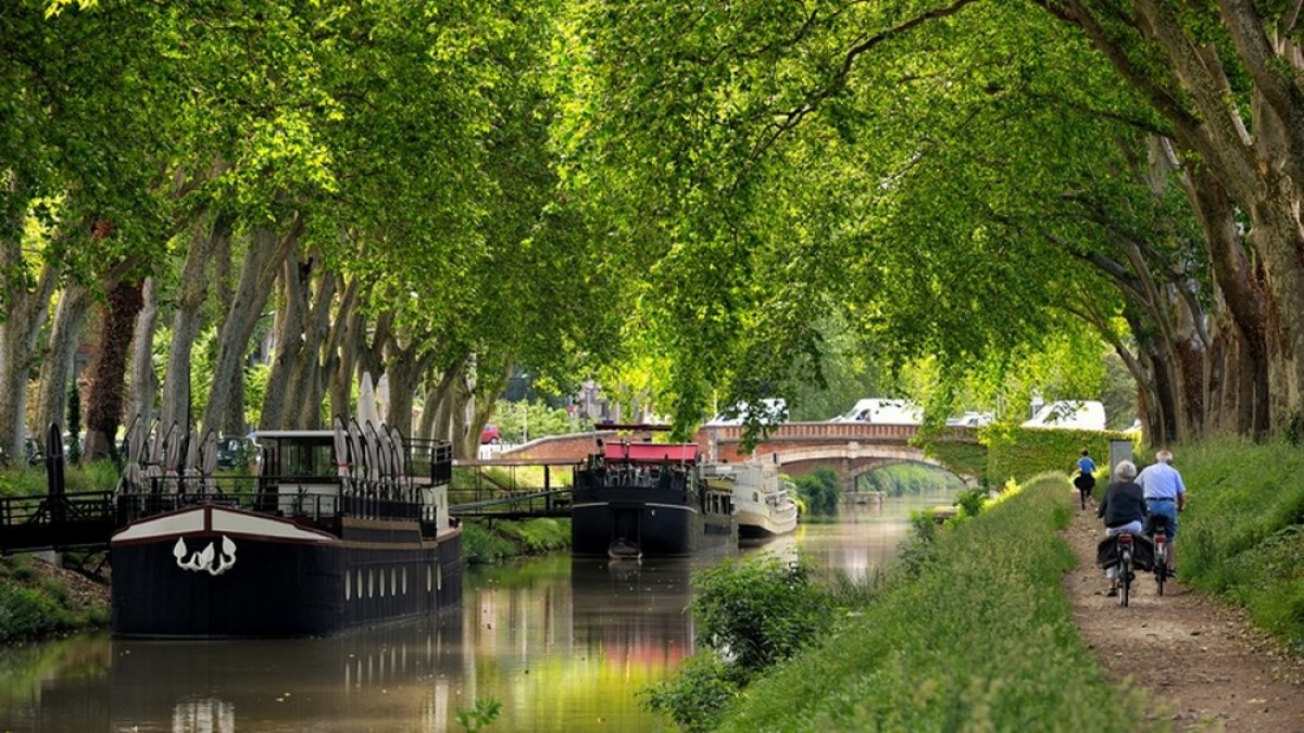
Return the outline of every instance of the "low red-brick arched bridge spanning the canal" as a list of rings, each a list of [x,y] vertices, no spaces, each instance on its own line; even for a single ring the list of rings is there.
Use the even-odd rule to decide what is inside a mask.
[[[742,426],[711,425],[698,430],[695,441],[709,462],[741,463],[751,455],[776,456],[789,476],[805,476],[818,468],[832,468],[846,489],[855,486],[861,473],[893,463],[927,463],[951,471],[966,484],[975,477],[928,458],[910,445],[918,433],[915,425],[879,425],[872,423],[785,423],[759,441],[751,454],[742,450]],[[970,428],[947,428],[949,438],[977,442]],[[502,458],[548,463],[579,463],[593,453],[597,440],[651,440],[649,432],[600,430],[552,436],[503,451]]]

